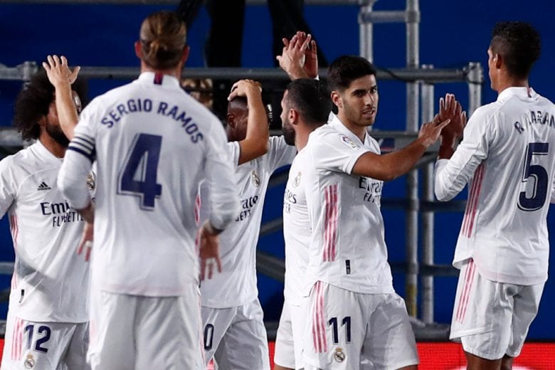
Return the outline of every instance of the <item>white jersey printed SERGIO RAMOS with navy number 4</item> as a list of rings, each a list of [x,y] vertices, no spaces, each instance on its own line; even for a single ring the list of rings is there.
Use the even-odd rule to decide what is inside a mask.
[[[97,288],[164,297],[198,282],[194,200],[201,179],[211,184],[215,228],[225,228],[238,207],[225,146],[221,122],[169,75],[142,73],[90,102],[58,181],[83,208],[88,199],[74,177],[96,158]]]

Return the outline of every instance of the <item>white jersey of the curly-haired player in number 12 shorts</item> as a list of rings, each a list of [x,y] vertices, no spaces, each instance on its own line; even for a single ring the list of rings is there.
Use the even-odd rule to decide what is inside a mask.
[[[40,141],[0,162],[0,217],[8,213],[16,253],[9,310],[33,322],[88,321],[84,222],[58,189],[61,165]]]

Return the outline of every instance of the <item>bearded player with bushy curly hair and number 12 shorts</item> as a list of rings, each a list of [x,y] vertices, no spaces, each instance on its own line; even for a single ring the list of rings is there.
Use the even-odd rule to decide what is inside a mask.
[[[67,109],[77,115],[84,81],[73,90]],[[0,215],[8,213],[16,253],[1,369],[88,369],[89,255],[79,242],[83,218],[56,185],[69,140],[46,73],[19,93],[14,124],[37,141],[0,162]]]

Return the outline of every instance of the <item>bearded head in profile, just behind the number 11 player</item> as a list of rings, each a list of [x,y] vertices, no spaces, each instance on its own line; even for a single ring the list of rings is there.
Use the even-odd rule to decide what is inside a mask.
[[[300,78],[287,85],[281,100],[281,123],[285,142],[295,145],[297,125],[316,129],[324,125],[332,110],[326,83]]]

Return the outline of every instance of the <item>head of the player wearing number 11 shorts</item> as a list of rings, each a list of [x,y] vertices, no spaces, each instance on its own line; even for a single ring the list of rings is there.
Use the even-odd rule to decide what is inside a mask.
[[[345,124],[374,125],[379,96],[372,63],[360,56],[340,56],[329,65],[327,82]]]

